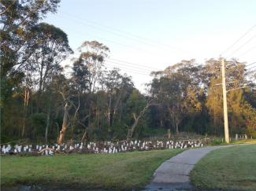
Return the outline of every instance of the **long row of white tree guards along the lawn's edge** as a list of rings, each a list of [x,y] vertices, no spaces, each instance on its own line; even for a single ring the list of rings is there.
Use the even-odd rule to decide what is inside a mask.
[[[80,143],[67,143],[55,145],[0,145],[2,155],[54,155],[54,154],[97,154],[97,153],[117,153],[132,152],[134,150],[150,151],[154,149],[185,149],[202,147],[202,141],[121,141],[121,142],[90,142],[84,145]]]

